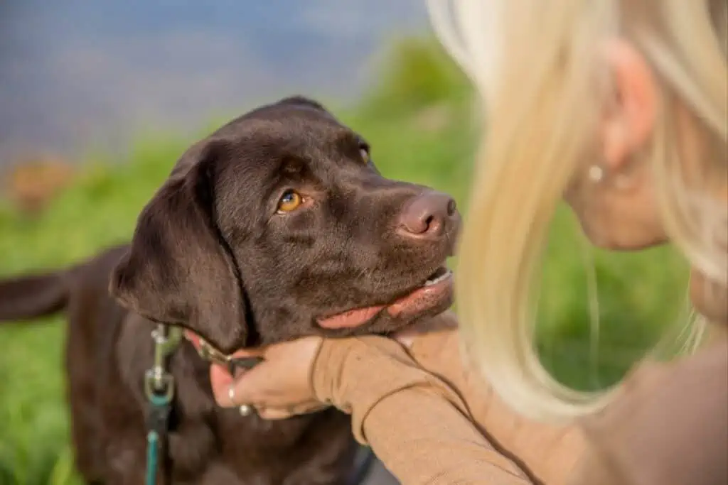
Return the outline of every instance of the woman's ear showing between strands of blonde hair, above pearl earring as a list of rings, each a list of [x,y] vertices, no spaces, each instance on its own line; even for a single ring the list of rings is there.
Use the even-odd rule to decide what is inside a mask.
[[[608,41],[604,57],[613,96],[602,117],[602,156],[609,172],[619,172],[652,136],[658,87],[644,56],[627,41]]]

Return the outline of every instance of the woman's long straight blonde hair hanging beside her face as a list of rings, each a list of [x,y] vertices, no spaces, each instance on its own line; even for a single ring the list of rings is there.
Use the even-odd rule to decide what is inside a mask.
[[[577,392],[544,369],[534,301],[550,221],[595,145],[598,98],[610,93],[601,49],[622,36],[657,73],[660,113],[646,156],[666,231],[695,268],[728,284],[727,208],[705,195],[727,166],[727,2],[428,1],[435,32],[488,119],[457,274],[464,354],[523,414],[558,422],[596,412],[618,386]],[[683,173],[673,125],[682,108],[717,151],[697,161],[705,180]]]

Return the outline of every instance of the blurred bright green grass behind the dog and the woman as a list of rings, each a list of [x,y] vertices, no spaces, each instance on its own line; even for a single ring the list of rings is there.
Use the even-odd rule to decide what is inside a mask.
[[[384,175],[448,191],[467,220],[475,140],[467,83],[430,41],[419,40],[392,48],[381,79],[357,107],[330,108],[371,142]],[[71,188],[32,219],[2,202],[0,276],[62,267],[126,241],[138,211],[192,141],[149,134],[128,159],[90,154]],[[562,209],[547,256],[539,328],[544,360],[555,374],[579,388],[598,388],[619,377],[662,326],[684,316],[687,279],[670,249],[614,255],[586,248]],[[590,257],[599,283],[596,353],[588,325]],[[62,318],[53,318],[0,329],[0,485],[80,483],[67,436],[63,327]]]

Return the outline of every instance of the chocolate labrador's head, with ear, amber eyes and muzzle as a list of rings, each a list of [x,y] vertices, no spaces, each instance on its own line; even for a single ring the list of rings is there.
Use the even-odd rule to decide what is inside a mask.
[[[190,148],[111,277],[122,305],[220,350],[390,332],[452,303],[459,214],[382,177],[362,137],[287,98]]]

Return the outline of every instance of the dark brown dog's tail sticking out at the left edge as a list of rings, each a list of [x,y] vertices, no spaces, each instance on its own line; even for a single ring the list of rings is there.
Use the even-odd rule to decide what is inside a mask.
[[[65,310],[69,290],[64,270],[0,280],[0,321],[32,320]]]

